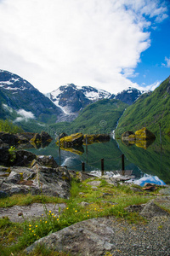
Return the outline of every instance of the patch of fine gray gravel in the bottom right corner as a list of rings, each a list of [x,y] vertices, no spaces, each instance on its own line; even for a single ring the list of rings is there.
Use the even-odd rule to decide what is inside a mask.
[[[170,217],[151,218],[148,224],[127,224],[112,219],[116,250],[112,255],[170,255]]]

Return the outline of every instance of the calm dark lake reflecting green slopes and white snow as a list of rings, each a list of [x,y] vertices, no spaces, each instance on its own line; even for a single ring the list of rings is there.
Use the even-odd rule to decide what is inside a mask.
[[[142,147],[142,148],[141,148]],[[170,138],[163,137],[160,145],[159,138],[149,145],[125,145],[121,140],[112,139],[108,143],[94,143],[81,148],[67,148],[60,150],[55,141],[47,148],[31,148],[34,154],[53,155],[60,166],[85,172],[101,173],[101,159],[104,159],[105,173],[116,175],[122,170],[122,154],[125,156],[125,170],[130,170],[134,176],[133,182],[169,184],[170,183]]]

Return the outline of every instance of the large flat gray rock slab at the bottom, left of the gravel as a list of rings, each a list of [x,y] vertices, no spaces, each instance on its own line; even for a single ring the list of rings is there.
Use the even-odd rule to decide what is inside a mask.
[[[27,247],[26,253],[31,253],[38,243],[43,243],[48,248],[69,252],[71,255],[104,255],[105,251],[115,248],[114,238],[115,233],[109,226],[109,220],[105,224],[105,218],[92,218],[43,237]]]

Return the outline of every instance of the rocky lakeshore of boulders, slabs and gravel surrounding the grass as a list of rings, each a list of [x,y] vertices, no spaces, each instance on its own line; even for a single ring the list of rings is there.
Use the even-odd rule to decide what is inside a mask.
[[[37,156],[25,150],[15,152],[12,165],[8,165],[9,159],[8,154],[3,154],[1,157],[3,166],[0,166],[0,198],[2,200],[11,195],[30,194],[55,196],[69,201],[73,177],[77,179],[80,188],[91,189],[91,193],[96,193],[99,209],[105,207],[111,209],[116,204],[119,209],[119,203],[113,200],[120,195],[122,201],[127,201],[129,195],[133,198],[141,196],[147,200],[147,203],[129,205],[123,210],[129,212],[129,216],[135,212],[144,218],[145,222],[142,224],[135,224],[134,219],[128,222],[119,212],[117,213],[120,218],[111,214],[99,218],[89,217],[38,239],[26,248],[25,253],[32,253],[37,244],[43,244],[56,252],[69,253],[68,255],[170,255],[169,186],[161,188],[146,184],[145,189],[142,189],[124,183],[124,177],[122,181],[121,178],[93,177],[87,173],[69,172],[65,167],[58,166],[52,156]],[[82,207],[80,209],[88,212],[92,202],[88,201],[84,189],[76,196]],[[123,189],[130,194],[122,193]],[[154,192],[155,190],[157,192]],[[59,216],[65,212],[67,204],[47,203],[45,207],[47,211],[50,210],[49,212]],[[15,223],[23,219],[31,221],[32,218],[40,218],[44,213],[44,206],[41,203],[0,208],[0,218],[8,217]]]

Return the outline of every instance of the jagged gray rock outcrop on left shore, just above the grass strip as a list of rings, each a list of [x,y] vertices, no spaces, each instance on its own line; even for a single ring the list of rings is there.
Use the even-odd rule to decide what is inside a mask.
[[[64,167],[41,166],[34,162],[32,168],[13,166],[0,168],[1,192],[5,195],[50,195],[69,198],[71,178]]]

